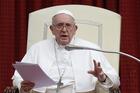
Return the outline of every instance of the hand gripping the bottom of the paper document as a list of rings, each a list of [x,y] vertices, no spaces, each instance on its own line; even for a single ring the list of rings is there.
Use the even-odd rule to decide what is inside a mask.
[[[35,84],[30,81],[21,82],[21,90],[23,90],[25,92],[29,92],[34,86],[35,86]]]

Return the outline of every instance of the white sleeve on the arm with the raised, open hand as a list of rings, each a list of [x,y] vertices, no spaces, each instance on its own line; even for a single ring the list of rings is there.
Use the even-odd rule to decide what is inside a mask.
[[[107,76],[106,82],[100,83],[100,85],[102,85],[104,88],[118,87],[120,85],[119,76],[103,53],[92,51],[92,60],[93,59],[100,62],[102,70]]]

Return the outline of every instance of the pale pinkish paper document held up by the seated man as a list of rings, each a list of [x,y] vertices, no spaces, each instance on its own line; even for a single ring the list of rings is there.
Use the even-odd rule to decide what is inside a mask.
[[[28,80],[35,83],[34,88],[47,87],[51,85],[56,85],[38,64],[30,63],[16,63],[13,64],[14,68],[21,75],[23,80]]]

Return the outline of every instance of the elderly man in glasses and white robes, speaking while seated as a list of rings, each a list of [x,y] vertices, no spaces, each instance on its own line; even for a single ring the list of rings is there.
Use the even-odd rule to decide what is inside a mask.
[[[22,62],[39,64],[42,70],[57,86],[33,89],[34,82],[24,81],[17,71],[13,75],[13,85],[21,92],[35,93],[95,93],[96,84],[105,90],[119,86],[119,77],[102,53],[91,50],[67,51],[66,45],[99,47],[75,37],[78,29],[73,14],[61,10],[52,17],[50,26],[55,38],[34,44]],[[61,81],[61,82],[60,82]]]

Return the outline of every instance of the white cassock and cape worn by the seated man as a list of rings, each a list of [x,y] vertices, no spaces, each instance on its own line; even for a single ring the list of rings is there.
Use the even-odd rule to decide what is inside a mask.
[[[99,49],[97,45],[79,38],[73,38],[70,44]],[[100,83],[100,85],[105,89],[113,85],[119,86],[117,73],[101,52],[91,50],[67,51],[64,46],[58,45],[54,38],[34,44],[22,62],[39,64],[42,70],[56,82],[63,75],[61,93],[88,93],[95,90],[98,81],[96,77],[87,73],[87,71],[94,69],[93,59],[101,63],[101,67],[108,77],[107,81]],[[22,78],[17,71],[15,71],[12,79],[13,85],[20,88]],[[56,93],[56,86],[38,88],[34,91]]]

